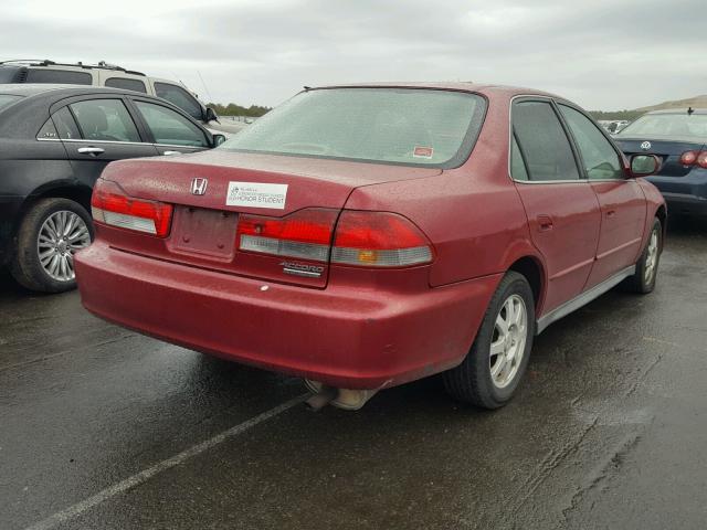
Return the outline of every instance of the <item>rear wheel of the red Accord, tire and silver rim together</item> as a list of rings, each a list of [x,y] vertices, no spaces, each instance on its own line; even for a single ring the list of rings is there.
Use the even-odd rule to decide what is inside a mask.
[[[444,373],[447,392],[484,409],[505,405],[526,371],[534,335],[532,289],[525,276],[509,272],[498,285],[466,358]]]

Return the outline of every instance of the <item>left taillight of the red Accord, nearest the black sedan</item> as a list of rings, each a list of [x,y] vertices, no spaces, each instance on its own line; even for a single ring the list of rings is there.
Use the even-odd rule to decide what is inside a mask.
[[[172,218],[172,205],[128,197],[109,180],[98,179],[91,198],[94,221],[167,237]]]

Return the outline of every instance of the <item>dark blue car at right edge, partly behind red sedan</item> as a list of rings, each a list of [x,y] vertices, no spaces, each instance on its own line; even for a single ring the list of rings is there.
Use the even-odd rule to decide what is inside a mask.
[[[707,215],[707,109],[654,110],[615,136],[627,155],[652,153],[661,170],[647,180],[672,214]]]

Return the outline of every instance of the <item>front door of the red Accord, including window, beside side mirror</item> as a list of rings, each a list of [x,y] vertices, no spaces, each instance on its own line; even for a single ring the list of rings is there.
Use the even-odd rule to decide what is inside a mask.
[[[588,287],[635,264],[641,252],[646,200],[635,179],[627,179],[621,155],[594,123],[566,104],[558,108],[580,155],[585,177],[601,206],[597,263]]]

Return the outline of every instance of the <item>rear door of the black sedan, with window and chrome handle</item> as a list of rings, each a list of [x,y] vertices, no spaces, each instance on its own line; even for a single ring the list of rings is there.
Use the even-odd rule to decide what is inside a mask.
[[[93,186],[114,160],[158,155],[120,96],[89,96],[52,108],[52,119],[78,180]]]

